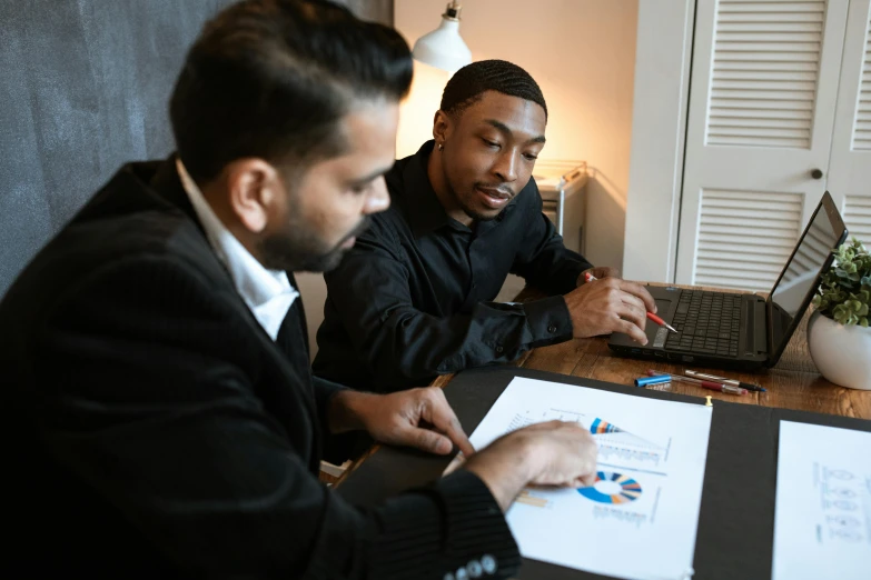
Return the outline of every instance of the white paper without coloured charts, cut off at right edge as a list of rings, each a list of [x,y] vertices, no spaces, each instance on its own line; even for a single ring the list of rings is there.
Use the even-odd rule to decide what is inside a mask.
[[[771,574],[871,578],[871,433],[780,422]]]

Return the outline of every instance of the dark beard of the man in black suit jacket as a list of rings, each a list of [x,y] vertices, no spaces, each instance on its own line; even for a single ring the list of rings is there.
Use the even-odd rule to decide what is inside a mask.
[[[359,236],[372,218],[366,216],[350,233],[336,246],[325,250],[320,239],[299,224],[290,224],[286,232],[267,236],[259,243],[265,268],[291,272],[327,272],[336,268],[350,248],[342,248],[349,238]]]

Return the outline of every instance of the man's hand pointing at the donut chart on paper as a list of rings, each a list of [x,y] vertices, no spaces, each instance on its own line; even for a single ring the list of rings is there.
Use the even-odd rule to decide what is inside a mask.
[[[487,484],[503,511],[528,484],[592,486],[597,448],[577,423],[550,421],[497,439],[466,461],[464,469]]]

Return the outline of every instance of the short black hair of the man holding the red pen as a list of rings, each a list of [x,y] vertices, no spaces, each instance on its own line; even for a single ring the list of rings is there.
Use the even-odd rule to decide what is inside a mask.
[[[547,103],[538,83],[524,69],[505,60],[481,60],[456,71],[442,93],[441,109],[448,114],[459,114],[487,91],[535,102],[544,109],[547,120]]]

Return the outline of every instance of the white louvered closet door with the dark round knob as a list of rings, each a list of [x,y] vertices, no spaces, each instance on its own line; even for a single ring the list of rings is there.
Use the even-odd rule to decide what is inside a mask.
[[[825,191],[847,0],[699,0],[676,282],[770,290]]]

